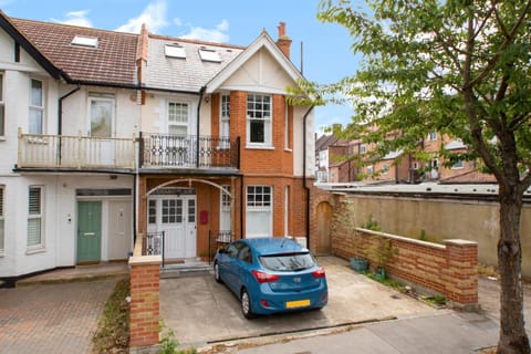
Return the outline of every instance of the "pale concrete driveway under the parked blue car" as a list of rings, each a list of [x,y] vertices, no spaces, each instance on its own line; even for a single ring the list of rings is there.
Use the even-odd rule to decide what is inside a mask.
[[[355,273],[334,257],[326,270],[329,304],[321,311],[243,319],[238,299],[211,275],[160,280],[160,317],[181,344],[205,344],[332,327],[437,310]]]

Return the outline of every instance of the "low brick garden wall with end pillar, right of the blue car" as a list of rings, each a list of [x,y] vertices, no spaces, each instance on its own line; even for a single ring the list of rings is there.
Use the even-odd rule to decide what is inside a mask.
[[[477,309],[476,242],[454,239],[437,244],[362,228],[352,232],[339,226],[332,236],[332,250],[345,259],[367,258],[373,268],[384,266],[392,278],[445,295],[450,306]],[[382,252],[388,256],[383,264]]]

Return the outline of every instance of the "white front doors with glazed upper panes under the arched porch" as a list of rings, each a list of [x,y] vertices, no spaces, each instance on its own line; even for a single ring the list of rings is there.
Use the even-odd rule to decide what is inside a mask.
[[[196,196],[150,196],[147,231],[164,231],[165,259],[196,257]]]

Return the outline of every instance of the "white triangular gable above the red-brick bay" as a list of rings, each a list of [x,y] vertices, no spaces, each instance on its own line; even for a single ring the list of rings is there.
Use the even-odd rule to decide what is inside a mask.
[[[220,88],[284,94],[285,87],[294,84],[293,79],[288,75],[271,53],[262,48],[229,76]]]

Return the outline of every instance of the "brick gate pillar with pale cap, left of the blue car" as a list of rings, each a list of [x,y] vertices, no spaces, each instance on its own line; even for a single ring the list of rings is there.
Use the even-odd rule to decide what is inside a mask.
[[[160,256],[129,258],[129,347],[158,344]]]

